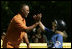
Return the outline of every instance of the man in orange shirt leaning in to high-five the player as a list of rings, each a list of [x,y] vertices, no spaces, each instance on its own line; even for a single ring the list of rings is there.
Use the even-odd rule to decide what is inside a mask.
[[[29,6],[23,4],[20,12],[12,18],[8,26],[6,36],[3,40],[3,48],[19,48],[22,39],[25,39],[27,47],[30,48],[27,31],[34,29],[39,22],[37,21],[32,26],[27,27],[25,18],[27,18],[28,13]]]

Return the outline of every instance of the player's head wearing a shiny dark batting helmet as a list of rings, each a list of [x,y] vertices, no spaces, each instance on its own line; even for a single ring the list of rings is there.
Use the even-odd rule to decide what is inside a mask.
[[[66,29],[66,23],[63,20],[54,20],[52,22],[52,29],[64,31]]]

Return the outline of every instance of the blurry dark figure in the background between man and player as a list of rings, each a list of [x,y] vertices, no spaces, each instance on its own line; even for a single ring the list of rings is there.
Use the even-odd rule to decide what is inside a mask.
[[[35,33],[32,35],[32,42],[33,43],[46,43],[47,42],[47,38],[42,33],[43,31],[40,27],[36,28],[36,30],[33,30],[33,31],[34,31],[33,33]]]

